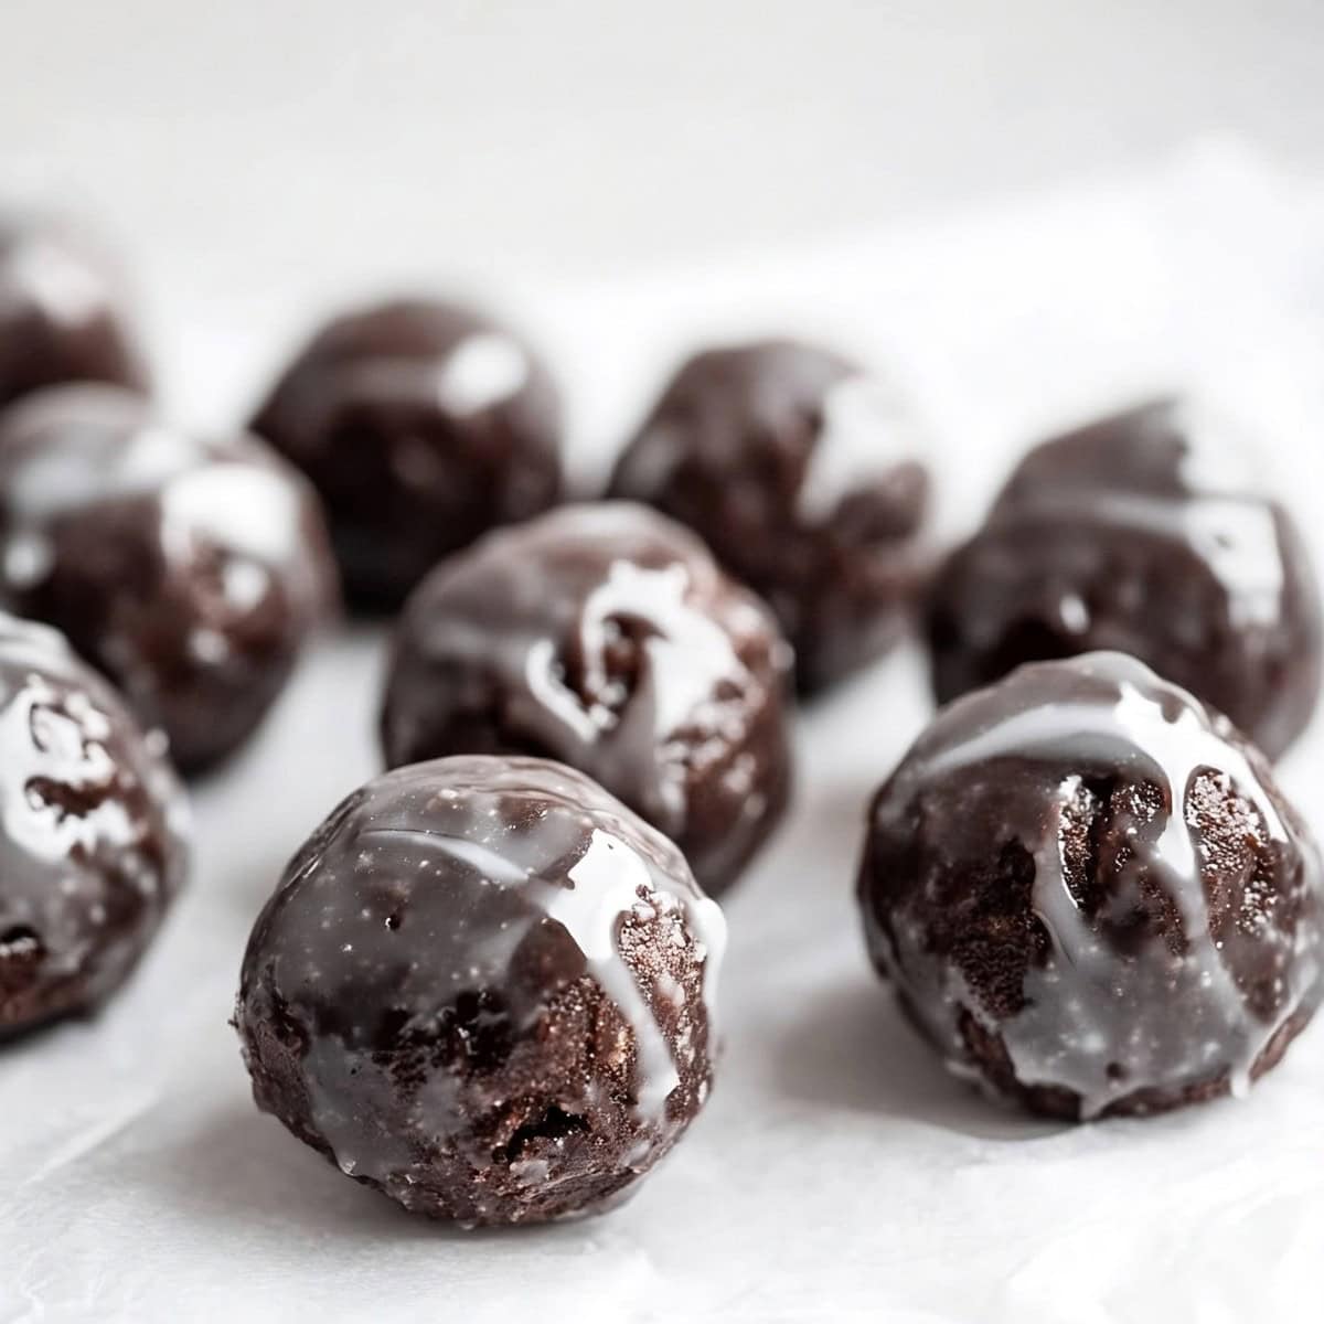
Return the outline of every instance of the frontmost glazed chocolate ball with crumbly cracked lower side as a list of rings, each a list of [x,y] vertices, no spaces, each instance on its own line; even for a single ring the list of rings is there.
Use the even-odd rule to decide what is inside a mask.
[[[414,1213],[597,1213],[707,1098],[724,933],[679,851],[580,773],[397,769],[335,809],[253,929],[254,1098]]]

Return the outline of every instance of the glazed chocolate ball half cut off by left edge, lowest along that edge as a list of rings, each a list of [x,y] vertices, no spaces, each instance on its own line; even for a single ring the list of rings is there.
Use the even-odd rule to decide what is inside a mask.
[[[113,993],[184,880],[187,808],[123,700],[0,614],[0,1038]]]

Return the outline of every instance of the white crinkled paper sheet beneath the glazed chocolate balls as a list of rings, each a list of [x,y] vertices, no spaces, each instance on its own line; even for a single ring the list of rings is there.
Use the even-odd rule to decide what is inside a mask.
[[[175,404],[217,424],[340,293],[315,245],[281,285],[238,252],[155,260]],[[1321,542],[1324,197],[1234,151],[813,253],[506,293],[564,375],[583,474],[675,354],[785,328],[919,392],[949,530],[1045,428],[1176,383],[1272,438]],[[377,769],[380,665],[365,630],[310,657],[197,788],[196,875],[138,976],[0,1057],[0,1321],[1320,1317],[1324,1029],[1245,1104],[1063,1128],[947,1078],[871,978],[855,853],[928,714],[916,649],[801,720],[793,814],[727,907],[715,1092],[632,1204],[462,1234],[347,1181],[253,1108],[226,1017],[286,858]],[[1316,828],[1321,755],[1316,735],[1282,768]]]

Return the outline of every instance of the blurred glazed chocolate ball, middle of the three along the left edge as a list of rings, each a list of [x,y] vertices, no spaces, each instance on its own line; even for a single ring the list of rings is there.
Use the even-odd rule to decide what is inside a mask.
[[[65,630],[196,771],[281,692],[334,567],[316,496],[256,438],[56,387],[0,417],[0,594]]]

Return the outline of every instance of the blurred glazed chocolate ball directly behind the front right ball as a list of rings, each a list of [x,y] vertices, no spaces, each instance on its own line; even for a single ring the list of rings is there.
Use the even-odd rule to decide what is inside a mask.
[[[1116,649],[1282,753],[1319,694],[1319,592],[1234,442],[1165,400],[1030,451],[933,585],[939,703],[1022,662]]]

